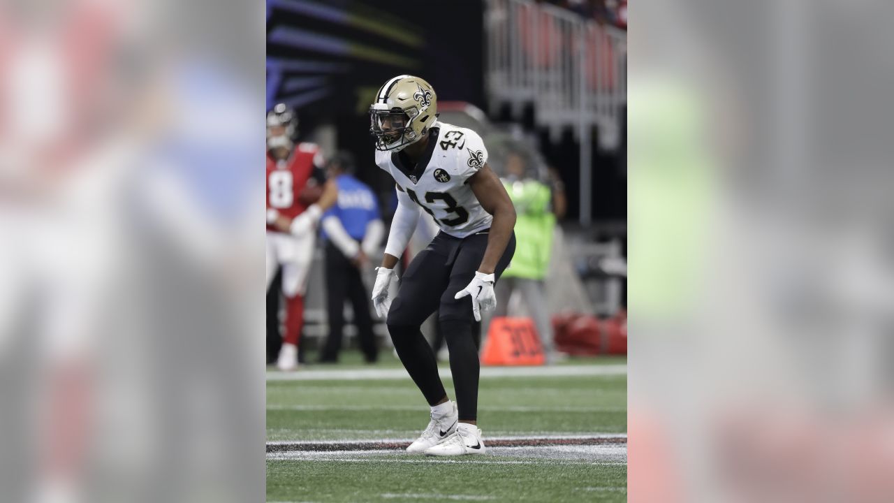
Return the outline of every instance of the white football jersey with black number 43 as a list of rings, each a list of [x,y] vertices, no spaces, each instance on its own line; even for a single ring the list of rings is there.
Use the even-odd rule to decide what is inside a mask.
[[[435,123],[417,166],[405,166],[399,152],[375,151],[375,164],[392,175],[398,190],[425,209],[444,233],[466,237],[491,226],[493,217],[468,186],[468,178],[487,162],[477,132]],[[436,140],[435,140],[436,137]]]

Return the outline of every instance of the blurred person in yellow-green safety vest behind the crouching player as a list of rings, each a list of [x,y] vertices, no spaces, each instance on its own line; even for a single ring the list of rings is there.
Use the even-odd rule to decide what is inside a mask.
[[[510,266],[496,284],[497,307],[494,316],[506,316],[511,293],[518,289],[527,304],[527,311],[534,321],[549,364],[565,356],[555,351],[552,342],[552,322],[544,283],[550,264],[556,217],[552,213],[550,187],[532,177],[526,164],[526,159],[519,152],[510,152],[506,158],[506,176],[502,183],[515,206],[517,241]]]

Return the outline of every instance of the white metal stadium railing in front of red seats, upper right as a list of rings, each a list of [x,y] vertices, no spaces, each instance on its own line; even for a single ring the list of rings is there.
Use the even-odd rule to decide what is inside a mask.
[[[528,0],[488,0],[486,86],[493,107],[514,115],[533,104],[536,124],[558,140],[598,128],[603,149],[620,146],[627,103],[627,33]],[[581,138],[578,137],[578,140]]]

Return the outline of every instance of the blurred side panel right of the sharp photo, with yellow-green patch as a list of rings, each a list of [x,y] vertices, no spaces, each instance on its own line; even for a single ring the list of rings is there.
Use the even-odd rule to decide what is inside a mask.
[[[632,6],[629,501],[894,494],[892,13]]]

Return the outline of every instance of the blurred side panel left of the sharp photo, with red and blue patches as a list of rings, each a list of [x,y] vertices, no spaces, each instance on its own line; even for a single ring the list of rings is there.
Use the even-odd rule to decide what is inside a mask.
[[[0,500],[263,494],[264,15],[217,5],[0,2]]]

